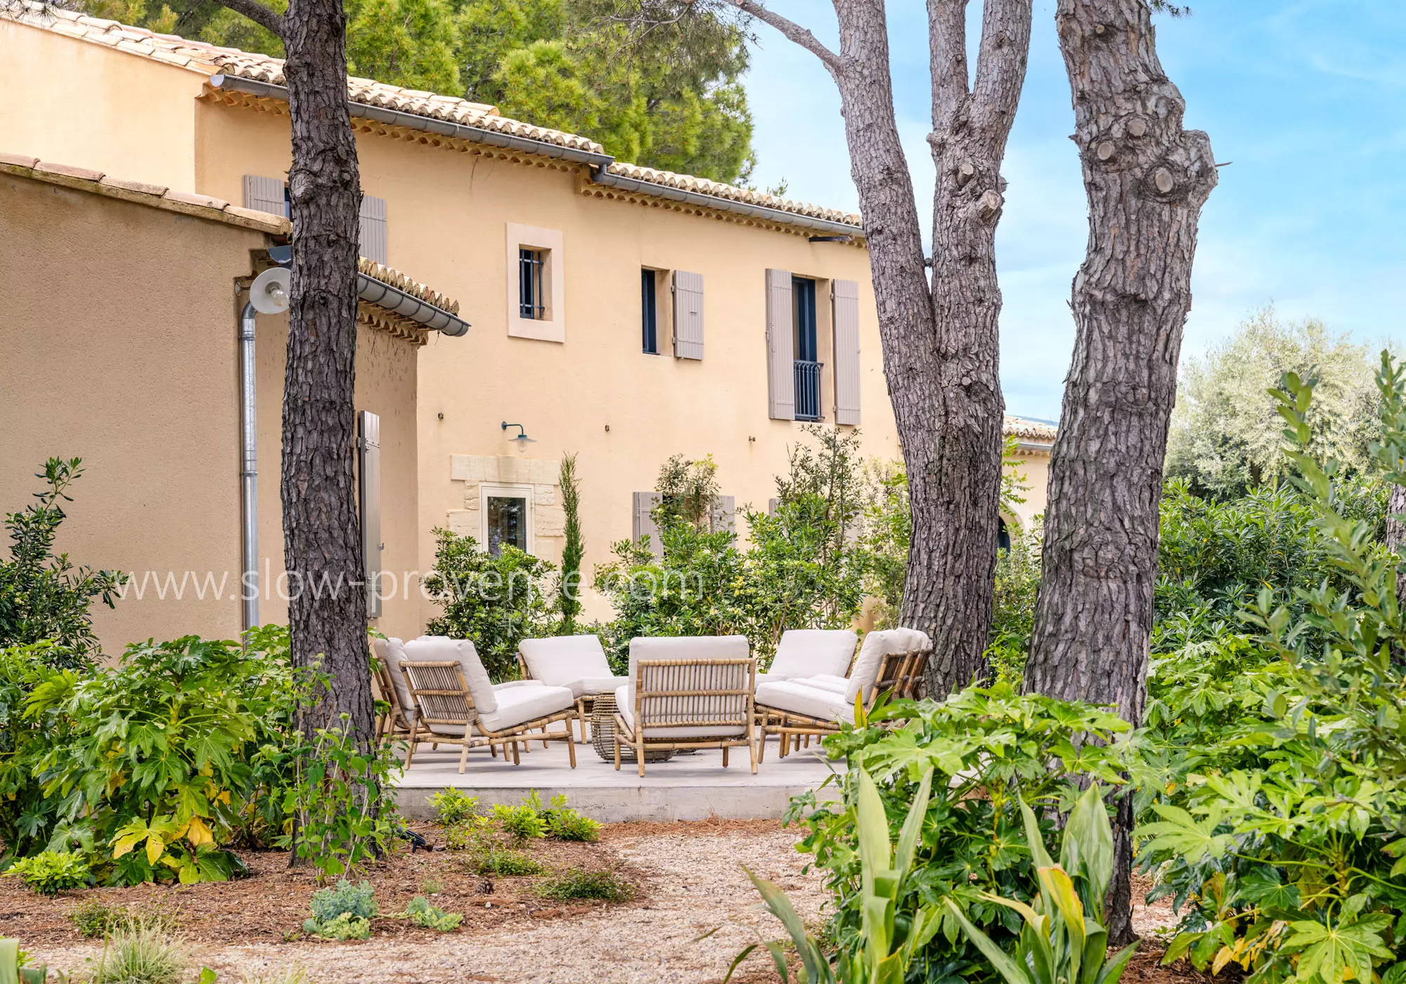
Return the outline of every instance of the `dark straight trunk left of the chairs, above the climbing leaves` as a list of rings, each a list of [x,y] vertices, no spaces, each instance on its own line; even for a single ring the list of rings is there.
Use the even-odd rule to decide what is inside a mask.
[[[283,21],[292,121],[292,306],[283,401],[284,561],[295,666],[330,678],[304,730],[373,734],[356,496],[356,271],[361,207],[340,0],[292,0]]]

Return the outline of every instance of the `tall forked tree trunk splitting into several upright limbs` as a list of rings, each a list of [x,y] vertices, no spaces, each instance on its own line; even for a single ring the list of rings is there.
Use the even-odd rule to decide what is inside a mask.
[[[988,0],[969,90],[965,3],[931,0],[938,169],[929,287],[912,181],[893,108],[877,0],[837,3],[839,86],[859,190],[884,374],[908,472],[912,543],[901,621],[932,637],[929,693],[986,669],[1001,482],[994,239],[1000,177],[1029,51],[1031,6]]]

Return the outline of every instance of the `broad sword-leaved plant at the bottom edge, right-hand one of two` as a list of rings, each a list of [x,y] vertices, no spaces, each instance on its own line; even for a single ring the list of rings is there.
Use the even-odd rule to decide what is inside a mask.
[[[1021,814],[1035,859],[1039,897],[1033,905],[1026,905],[983,893],[987,901],[1005,905],[1024,918],[1015,956],[972,925],[950,898],[948,909],[1005,984],[1118,984],[1137,945],[1105,960],[1108,931],[1102,915],[1114,870],[1114,835],[1098,787],[1085,790],[1070,811],[1059,865],[1045,850],[1039,821],[1024,801]]]

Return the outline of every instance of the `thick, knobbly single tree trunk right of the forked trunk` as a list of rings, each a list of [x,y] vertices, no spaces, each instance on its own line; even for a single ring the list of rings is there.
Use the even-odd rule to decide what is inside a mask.
[[[1211,141],[1157,60],[1144,0],[1059,0],[1060,49],[1088,195],[1088,254],[1050,460],[1029,690],[1142,720],[1157,575],[1157,503],[1191,308]],[[1109,936],[1132,936],[1130,808],[1118,811]]]

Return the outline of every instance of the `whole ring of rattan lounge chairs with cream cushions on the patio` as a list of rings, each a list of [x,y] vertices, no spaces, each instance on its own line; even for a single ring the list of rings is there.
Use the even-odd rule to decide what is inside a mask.
[[[471,748],[502,749],[515,765],[530,742],[564,742],[576,766],[574,723],[616,769],[704,748],[745,748],[752,772],[768,734],[780,755],[801,739],[853,723],[855,704],[872,707],[882,693],[920,696],[931,642],[910,628],[872,631],[855,655],[849,630],[782,634],[765,673],[756,672],[744,635],[683,635],[630,641],[627,676],[610,672],[595,635],[523,640],[520,680],[492,683],[470,640],[423,635],[378,638],[377,690],[387,713],[385,737],[408,742],[406,769],[418,745],[460,745],[463,773]],[[561,727],[553,727],[560,724]]]

